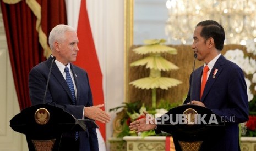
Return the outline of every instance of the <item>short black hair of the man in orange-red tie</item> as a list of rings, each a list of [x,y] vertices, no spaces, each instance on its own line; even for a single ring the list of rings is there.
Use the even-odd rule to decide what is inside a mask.
[[[215,48],[221,51],[224,47],[225,40],[224,28],[214,20],[201,21],[197,24],[197,27],[198,26],[203,27],[200,36],[204,39],[212,37],[214,39]]]

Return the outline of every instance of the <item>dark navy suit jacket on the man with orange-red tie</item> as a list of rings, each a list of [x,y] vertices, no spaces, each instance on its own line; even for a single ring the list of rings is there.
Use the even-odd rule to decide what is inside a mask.
[[[217,73],[214,77],[215,69]],[[203,66],[194,71],[193,84],[191,84],[190,76],[190,88],[184,104],[189,103],[190,98],[201,101],[213,113],[228,121],[225,125],[225,132],[209,136],[208,140],[203,142],[201,150],[240,150],[238,123],[247,121],[249,114],[243,71],[221,55],[211,70],[200,99],[202,72]],[[192,96],[190,96],[190,90],[192,90]]]

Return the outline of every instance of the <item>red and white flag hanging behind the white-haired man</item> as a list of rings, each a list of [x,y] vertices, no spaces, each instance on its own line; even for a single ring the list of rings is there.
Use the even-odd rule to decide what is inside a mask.
[[[68,3],[68,4],[71,4],[71,3]],[[66,3],[66,5],[68,4]],[[77,8],[72,8],[72,9],[74,10]],[[74,11],[69,9],[67,9],[67,12],[74,14]],[[75,18],[75,16],[73,16],[73,18]],[[73,26],[76,25],[75,22],[70,22],[69,20],[68,22],[69,22],[69,25],[70,24],[72,24]],[[99,60],[96,54],[94,39],[92,37],[89,17],[86,9],[86,0],[81,0],[78,26],[77,26],[77,36],[79,39],[79,44],[78,44],[79,52],[77,55],[77,61],[75,61],[74,64],[85,69],[85,71],[88,72],[94,105],[104,104],[104,94],[103,94],[103,88],[102,88],[102,73],[100,69]],[[104,110],[104,108],[102,109]],[[100,127],[99,128],[100,134],[98,133],[99,147],[100,147],[102,146],[102,144],[100,143],[104,143],[104,140],[106,139],[105,124],[97,122],[97,125],[99,125]],[[97,132],[99,131],[97,130]]]

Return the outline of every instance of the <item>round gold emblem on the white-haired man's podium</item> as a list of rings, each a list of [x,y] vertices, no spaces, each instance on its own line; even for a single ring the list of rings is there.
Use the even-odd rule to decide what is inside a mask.
[[[50,113],[47,109],[45,108],[37,109],[35,113],[35,120],[37,124],[44,125],[48,123],[49,119],[50,119]]]

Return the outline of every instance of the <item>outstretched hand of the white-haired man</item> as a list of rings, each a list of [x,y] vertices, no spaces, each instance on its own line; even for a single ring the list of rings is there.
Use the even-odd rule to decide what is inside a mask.
[[[109,122],[110,121],[110,114],[106,113],[101,107],[104,107],[104,104],[85,107],[84,108],[84,116],[88,117],[89,119],[100,121],[101,123]]]

